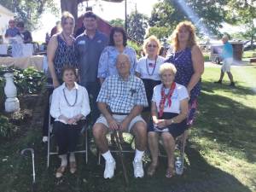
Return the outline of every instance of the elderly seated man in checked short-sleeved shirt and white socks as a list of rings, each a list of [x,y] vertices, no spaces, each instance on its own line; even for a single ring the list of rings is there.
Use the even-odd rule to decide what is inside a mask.
[[[106,134],[113,131],[131,131],[135,135],[136,154],[133,160],[134,177],[143,177],[143,153],[147,144],[147,125],[140,113],[148,106],[143,81],[130,74],[127,55],[118,55],[117,75],[105,79],[97,98],[102,115],[93,126],[96,145],[106,160],[104,177],[113,177],[115,160],[108,149]]]

